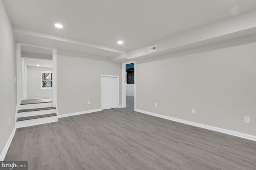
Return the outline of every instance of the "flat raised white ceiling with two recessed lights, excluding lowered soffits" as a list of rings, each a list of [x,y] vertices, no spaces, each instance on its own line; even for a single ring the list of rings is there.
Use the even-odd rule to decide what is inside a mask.
[[[255,0],[4,1],[14,27],[129,51],[256,8]],[[54,23],[62,23],[56,29]],[[123,40],[123,45],[116,42]]]

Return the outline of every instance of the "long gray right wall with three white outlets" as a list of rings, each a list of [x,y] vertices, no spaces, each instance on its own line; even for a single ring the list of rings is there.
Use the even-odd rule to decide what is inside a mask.
[[[137,62],[136,109],[256,135],[255,63],[256,43]]]

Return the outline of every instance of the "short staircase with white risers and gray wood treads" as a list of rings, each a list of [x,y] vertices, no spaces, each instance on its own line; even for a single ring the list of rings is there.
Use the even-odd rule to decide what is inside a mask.
[[[16,126],[26,127],[58,121],[52,99],[22,100],[17,112]]]

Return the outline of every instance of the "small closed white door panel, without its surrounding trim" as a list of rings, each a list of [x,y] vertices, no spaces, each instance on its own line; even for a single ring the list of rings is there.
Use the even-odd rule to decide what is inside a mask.
[[[117,107],[117,77],[102,78],[102,109],[112,109]]]

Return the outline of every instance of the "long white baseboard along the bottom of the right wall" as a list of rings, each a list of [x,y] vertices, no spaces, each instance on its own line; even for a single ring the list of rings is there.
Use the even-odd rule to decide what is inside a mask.
[[[186,121],[186,120],[183,120],[183,119],[177,119],[177,118],[174,118],[174,117],[160,115],[160,114],[156,114],[156,113],[152,113],[152,112],[144,111],[144,110],[139,110],[139,109],[134,109],[134,111],[137,111],[137,112],[140,112],[140,113],[145,113],[145,114],[156,116],[156,117],[161,117],[163,119],[168,119],[168,120],[176,121],[176,122],[179,122],[179,123],[184,123],[184,124],[187,124],[187,125],[201,127],[201,128],[204,128],[204,129],[208,129],[208,130],[212,130],[212,131],[216,131],[216,132],[220,132],[220,133],[225,133],[225,134],[236,136],[236,137],[241,137],[241,138],[244,138],[244,139],[249,139],[249,140],[252,140],[252,141],[256,141],[256,136],[248,135],[246,133],[230,131],[228,129],[222,129],[222,128],[219,128],[219,127],[204,125],[204,124],[195,123],[195,122],[192,122],[192,121]]]

